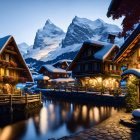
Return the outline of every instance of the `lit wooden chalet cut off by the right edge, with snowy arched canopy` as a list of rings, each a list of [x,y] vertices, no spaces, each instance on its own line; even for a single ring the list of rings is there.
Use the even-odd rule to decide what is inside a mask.
[[[122,78],[129,78],[135,75],[140,79],[140,24],[133,33],[125,40],[119,52],[114,58],[115,63],[122,63],[126,70],[122,73]],[[130,80],[130,78],[129,78]],[[140,87],[140,84],[138,88]],[[138,90],[138,97],[140,102]]]

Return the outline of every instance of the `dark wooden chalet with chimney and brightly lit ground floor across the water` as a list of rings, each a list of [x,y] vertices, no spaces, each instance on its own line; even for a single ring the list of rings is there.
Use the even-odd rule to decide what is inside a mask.
[[[118,51],[119,46],[112,43],[85,41],[67,70],[72,70],[72,77],[82,86],[117,88],[121,66],[114,63],[113,58]]]

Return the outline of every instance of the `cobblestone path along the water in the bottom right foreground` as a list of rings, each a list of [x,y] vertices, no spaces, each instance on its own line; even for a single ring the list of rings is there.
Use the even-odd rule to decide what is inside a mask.
[[[140,126],[131,118],[131,113],[119,112],[99,125],[59,140],[139,140]]]

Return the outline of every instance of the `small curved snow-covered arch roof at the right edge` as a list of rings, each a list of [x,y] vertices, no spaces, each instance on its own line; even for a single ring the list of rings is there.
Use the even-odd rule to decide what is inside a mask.
[[[136,69],[136,68],[128,69],[121,74],[121,77],[123,77],[124,75],[127,75],[127,74],[134,74],[135,76],[140,78],[140,69]]]

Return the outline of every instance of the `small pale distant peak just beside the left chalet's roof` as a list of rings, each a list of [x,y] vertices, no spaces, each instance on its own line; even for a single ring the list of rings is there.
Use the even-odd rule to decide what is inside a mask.
[[[24,56],[30,49],[33,48],[33,46],[29,46],[27,43],[23,42],[18,44],[18,48],[21,52],[21,54]]]

